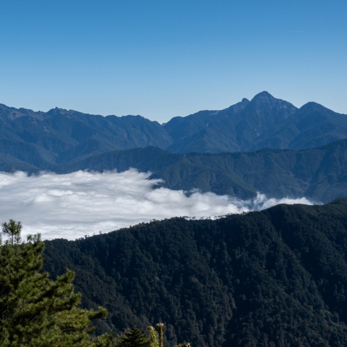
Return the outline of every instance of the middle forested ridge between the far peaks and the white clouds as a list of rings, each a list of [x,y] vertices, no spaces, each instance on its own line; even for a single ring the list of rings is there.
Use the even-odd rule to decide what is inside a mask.
[[[347,194],[347,139],[300,151],[262,149],[242,153],[174,154],[155,147],[95,155],[81,162],[54,167],[76,170],[151,171],[171,189],[212,191],[238,198],[256,192],[269,197],[309,197],[329,202]]]

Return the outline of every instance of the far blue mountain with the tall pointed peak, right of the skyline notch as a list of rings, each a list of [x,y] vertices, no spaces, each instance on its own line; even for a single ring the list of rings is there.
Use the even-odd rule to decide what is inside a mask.
[[[206,112],[204,124],[199,124],[200,130],[181,131],[181,137],[177,136],[177,129],[192,129],[193,119],[202,117],[196,113],[179,121],[177,117],[170,120],[164,128],[175,142],[167,150],[221,153],[264,147],[304,149],[347,137],[346,115],[313,102],[298,109],[267,92],[222,111]]]

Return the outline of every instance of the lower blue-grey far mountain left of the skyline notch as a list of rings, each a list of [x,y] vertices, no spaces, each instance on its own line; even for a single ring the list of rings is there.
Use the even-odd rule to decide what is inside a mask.
[[[94,116],[52,109],[33,112],[0,104],[0,152],[37,168],[115,149],[166,148],[172,140],[158,122],[141,116]],[[4,168],[0,167],[1,170]]]

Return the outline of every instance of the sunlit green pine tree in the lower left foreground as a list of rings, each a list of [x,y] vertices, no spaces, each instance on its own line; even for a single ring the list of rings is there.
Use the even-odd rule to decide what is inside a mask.
[[[2,224],[8,239],[0,238],[0,346],[111,346],[107,334],[90,337],[91,320],[107,310],[79,308],[73,271],[56,281],[40,273],[44,243],[39,234],[20,243],[21,228],[14,220]]]

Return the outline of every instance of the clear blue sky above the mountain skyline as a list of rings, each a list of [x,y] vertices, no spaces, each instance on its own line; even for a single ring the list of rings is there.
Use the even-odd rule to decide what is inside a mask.
[[[263,90],[347,113],[346,0],[1,0],[0,103],[165,122]]]

